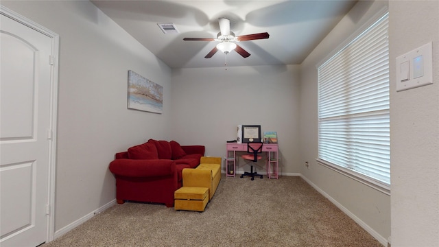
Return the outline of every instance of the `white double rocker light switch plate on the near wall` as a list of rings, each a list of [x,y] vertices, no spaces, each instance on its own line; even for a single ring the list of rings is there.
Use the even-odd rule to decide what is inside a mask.
[[[396,58],[396,91],[429,84],[433,84],[433,44],[431,42]]]

